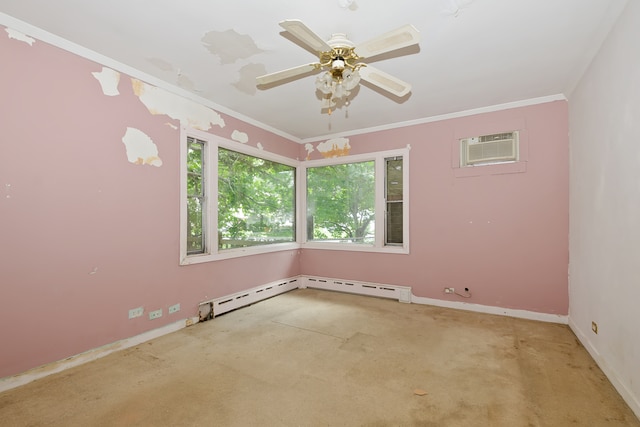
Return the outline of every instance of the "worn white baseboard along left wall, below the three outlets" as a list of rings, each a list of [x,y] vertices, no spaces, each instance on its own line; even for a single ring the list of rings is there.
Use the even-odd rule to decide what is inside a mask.
[[[46,365],[38,366],[37,368],[29,369],[21,374],[14,375],[12,377],[6,377],[0,379],[0,393],[12,388],[19,387],[21,385],[28,384],[40,378],[44,378],[48,375],[62,372],[66,369],[73,368],[74,366],[82,365],[93,360],[100,359],[115,351],[124,350],[130,347],[134,347],[143,342],[152,340],[154,338],[161,337],[163,335],[170,334],[171,332],[178,331],[185,328],[187,324],[194,324],[198,322],[197,317],[178,320],[177,322],[170,323],[151,331],[143,332],[140,335],[136,335],[131,338],[125,338],[120,341],[116,341],[111,344],[104,345],[102,347],[94,348],[84,353],[76,354],[75,356],[67,357],[63,360],[47,363]]]

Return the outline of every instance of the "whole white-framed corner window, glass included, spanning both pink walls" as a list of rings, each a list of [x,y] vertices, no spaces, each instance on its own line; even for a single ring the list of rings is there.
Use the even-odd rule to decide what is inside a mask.
[[[408,149],[299,162],[185,127],[181,141],[181,264],[409,251]]]

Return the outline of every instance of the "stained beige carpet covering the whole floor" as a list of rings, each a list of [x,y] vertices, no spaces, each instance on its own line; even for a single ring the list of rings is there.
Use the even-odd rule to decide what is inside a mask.
[[[564,325],[296,290],[0,394],[1,426],[640,426]]]

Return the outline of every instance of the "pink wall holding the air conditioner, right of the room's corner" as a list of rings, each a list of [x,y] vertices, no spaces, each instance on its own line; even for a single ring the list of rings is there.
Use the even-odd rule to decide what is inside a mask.
[[[475,168],[477,176],[457,176],[457,138],[513,129],[520,130],[526,172],[483,166]],[[420,297],[567,314],[566,102],[349,139],[350,154],[411,144],[411,253],[306,250],[304,274],[411,286]],[[314,152],[311,159],[318,157]],[[445,295],[444,287],[468,287],[473,297]]]

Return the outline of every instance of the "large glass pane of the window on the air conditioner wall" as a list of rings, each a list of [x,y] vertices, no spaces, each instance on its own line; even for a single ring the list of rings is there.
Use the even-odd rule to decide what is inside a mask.
[[[375,162],[307,169],[307,240],[373,244]]]

